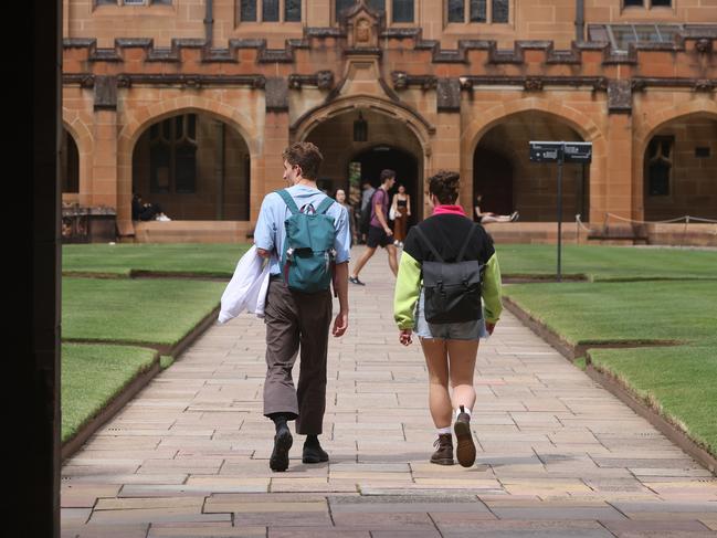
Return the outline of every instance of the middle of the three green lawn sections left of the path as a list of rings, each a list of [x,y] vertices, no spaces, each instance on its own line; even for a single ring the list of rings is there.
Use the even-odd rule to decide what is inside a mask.
[[[63,339],[175,345],[219,306],[223,282],[63,278]]]

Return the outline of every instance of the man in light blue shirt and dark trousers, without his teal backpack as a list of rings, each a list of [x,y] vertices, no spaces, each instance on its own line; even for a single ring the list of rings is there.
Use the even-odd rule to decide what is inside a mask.
[[[340,203],[327,202],[316,187],[323,156],[310,143],[296,143],[284,150],[284,180],[289,187],[264,198],[254,231],[260,255],[270,259],[270,284],[264,307],[266,324],[266,381],[264,383],[264,415],[274,421],[276,435],[270,458],[272,471],[288,468],[288,451],[293,439],[287,422],[296,420],[296,433],[306,435],[302,461],[327,462],[321,449],[326,409],[326,357],[328,329],[331,321],[330,289],[305,293],[289,288],[288,265],[280,260],[291,259],[284,222],[296,214],[333,218],[335,229],[334,287],[339,299],[339,313],[333,334],[339,337],[348,328],[348,260],[350,232],[348,212]],[[288,196],[291,199],[285,199]],[[329,199],[330,200],[330,199]],[[292,202],[293,201],[293,202]],[[289,208],[289,203],[294,208]],[[326,205],[328,209],[326,209]],[[329,226],[330,229],[330,226]],[[328,259],[327,259],[328,260]],[[285,273],[285,274],[284,274]],[[292,369],[300,348],[298,388],[294,389]]]

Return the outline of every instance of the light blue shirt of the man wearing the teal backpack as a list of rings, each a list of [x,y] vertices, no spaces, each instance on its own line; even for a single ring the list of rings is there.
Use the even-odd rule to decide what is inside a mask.
[[[299,211],[307,204],[313,204],[314,209],[326,198],[318,189],[313,189],[304,184],[295,184],[286,189],[292,196]],[[254,230],[254,244],[257,249],[264,249],[272,253],[270,260],[270,273],[278,275],[282,273],[281,259],[284,252],[284,242],[286,241],[286,229],[284,221],[291,217],[292,212],[286,203],[276,192],[266,194],[262,202],[262,209],[259,212],[256,229]],[[336,229],[336,263],[349,261],[351,232],[348,224],[348,211],[340,203],[333,203],[326,211],[326,214],[334,218],[334,228]]]

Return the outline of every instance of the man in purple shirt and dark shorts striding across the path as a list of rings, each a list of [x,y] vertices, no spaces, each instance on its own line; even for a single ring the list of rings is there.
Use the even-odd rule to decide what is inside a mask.
[[[371,199],[371,222],[366,242],[367,249],[357,262],[354,267],[354,273],[349,277],[349,282],[352,284],[358,284],[359,286],[366,285],[359,281],[358,275],[363,268],[363,265],[366,265],[376,253],[376,249],[378,249],[379,245],[386,249],[389,253],[389,266],[393,272],[393,276],[398,273],[399,264],[396,246],[393,246],[393,232],[389,228],[389,190],[393,187],[393,183],[396,183],[396,172],[389,169],[381,170],[381,187],[378,188]]]

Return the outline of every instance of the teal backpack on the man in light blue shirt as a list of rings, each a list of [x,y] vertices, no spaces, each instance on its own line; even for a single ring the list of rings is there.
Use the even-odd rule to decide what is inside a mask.
[[[313,213],[302,213],[286,189],[276,191],[291,217],[284,221],[286,242],[282,267],[286,285],[304,293],[323,292],[331,285],[336,251],[334,218],[326,214],[335,200],[326,197]]]

